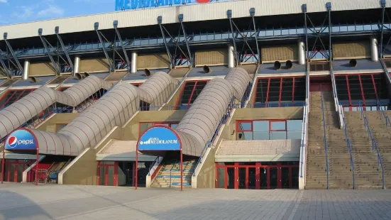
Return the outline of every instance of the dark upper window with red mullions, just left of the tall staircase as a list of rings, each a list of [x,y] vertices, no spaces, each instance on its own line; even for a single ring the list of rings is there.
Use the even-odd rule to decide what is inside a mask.
[[[255,108],[304,106],[304,77],[259,78],[255,90]]]

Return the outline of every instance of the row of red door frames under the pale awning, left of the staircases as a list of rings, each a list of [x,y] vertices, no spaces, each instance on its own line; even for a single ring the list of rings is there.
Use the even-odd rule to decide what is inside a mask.
[[[299,168],[299,165],[281,165],[280,162],[277,162],[277,165],[262,165],[262,163],[257,162],[255,165],[239,165],[238,162],[234,163],[234,165],[219,165],[219,163],[215,163],[215,187],[218,187],[218,178],[219,178],[219,168],[224,168],[224,188],[228,188],[228,168],[234,168],[234,189],[239,188],[239,168],[246,168],[246,180],[245,186],[248,189],[248,168],[255,168],[255,189],[260,189],[260,169],[267,169],[266,175],[268,179],[267,189],[270,189],[270,168],[277,168],[277,189],[282,188],[282,168],[289,168],[289,186],[292,189],[292,168]]]

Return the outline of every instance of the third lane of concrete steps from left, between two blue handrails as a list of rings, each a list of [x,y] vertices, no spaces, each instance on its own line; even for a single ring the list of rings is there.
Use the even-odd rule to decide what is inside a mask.
[[[344,116],[351,140],[356,189],[382,189],[382,171],[381,168],[378,169],[378,155],[372,151],[372,141],[368,138],[360,111],[344,112]]]

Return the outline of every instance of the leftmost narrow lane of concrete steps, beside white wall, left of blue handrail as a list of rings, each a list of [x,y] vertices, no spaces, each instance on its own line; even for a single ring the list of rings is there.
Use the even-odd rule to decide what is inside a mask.
[[[308,114],[308,143],[306,189],[326,189],[326,153],[324,151],[323,117],[321,94],[311,92]]]

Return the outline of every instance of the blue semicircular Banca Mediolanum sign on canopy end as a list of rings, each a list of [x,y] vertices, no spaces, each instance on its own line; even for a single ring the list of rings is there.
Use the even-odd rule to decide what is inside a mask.
[[[138,139],[138,150],[180,150],[180,140],[170,128],[153,127]]]

